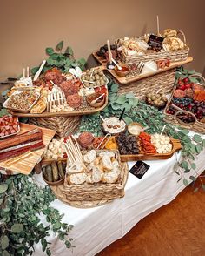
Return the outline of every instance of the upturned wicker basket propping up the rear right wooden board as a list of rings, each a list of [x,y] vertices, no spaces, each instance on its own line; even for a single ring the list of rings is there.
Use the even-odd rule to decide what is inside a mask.
[[[118,93],[124,94],[132,91],[137,98],[145,100],[145,95],[149,91],[158,91],[168,94],[173,90],[175,83],[175,69],[155,74],[136,82],[121,85]]]

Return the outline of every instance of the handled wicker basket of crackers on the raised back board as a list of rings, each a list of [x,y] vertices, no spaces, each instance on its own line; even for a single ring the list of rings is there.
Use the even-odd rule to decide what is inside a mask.
[[[186,37],[184,35],[184,33],[179,30],[177,32],[177,34],[182,34],[182,37],[183,37],[183,41],[184,41],[184,44],[186,44]],[[145,40],[146,37],[142,36],[142,37],[134,37],[133,39],[137,39],[137,40]],[[123,39],[120,39],[120,44],[122,45],[123,43]],[[188,51],[189,51],[189,48],[188,46],[185,46],[184,49],[182,50],[177,50],[177,51],[164,51],[164,52],[155,52],[155,53],[148,53],[148,54],[143,54],[143,55],[140,55],[140,56],[137,56],[136,54],[135,55],[127,55],[125,53],[125,51],[123,50],[123,47],[122,47],[122,62],[123,63],[137,63],[137,62],[147,62],[149,60],[159,60],[159,59],[164,59],[164,58],[169,58],[170,61],[182,61],[182,60],[185,60],[187,57],[188,57]]]

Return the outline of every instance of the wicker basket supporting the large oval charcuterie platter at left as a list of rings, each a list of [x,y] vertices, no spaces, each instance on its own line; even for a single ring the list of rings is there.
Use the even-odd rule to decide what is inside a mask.
[[[63,138],[69,133],[75,133],[81,123],[81,116],[30,118],[30,124],[49,128],[56,131],[56,138]]]

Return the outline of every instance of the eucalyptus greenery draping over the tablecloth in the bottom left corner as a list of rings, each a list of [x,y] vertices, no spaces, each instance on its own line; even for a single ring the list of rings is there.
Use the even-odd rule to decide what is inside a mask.
[[[22,174],[7,179],[0,174],[0,180],[0,255],[31,255],[39,242],[51,255],[50,232],[71,247],[68,235],[73,226],[63,223],[63,214],[50,206],[56,197],[49,186],[40,188]]]

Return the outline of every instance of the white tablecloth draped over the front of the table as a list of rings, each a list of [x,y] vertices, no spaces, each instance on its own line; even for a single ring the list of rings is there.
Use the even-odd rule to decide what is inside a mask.
[[[125,187],[125,196],[113,202],[91,209],[77,209],[55,200],[52,205],[64,213],[63,222],[74,225],[70,237],[73,238],[72,250],[66,249],[62,241],[55,236],[50,237],[52,255],[95,255],[109,246],[116,239],[122,238],[129,230],[150,212],[162,205],[168,204],[184,189],[182,180],[177,183],[179,176],[173,166],[177,154],[168,160],[145,161],[150,165],[148,172],[137,179],[129,173]],[[205,169],[205,151],[196,158],[198,174]],[[129,168],[135,162],[129,162]],[[195,172],[189,172],[187,177]],[[41,183],[41,175],[36,175]],[[35,256],[45,255],[41,246],[36,246]]]

